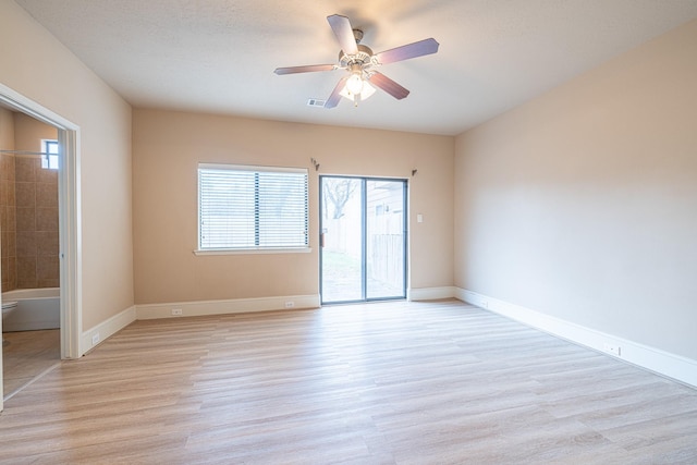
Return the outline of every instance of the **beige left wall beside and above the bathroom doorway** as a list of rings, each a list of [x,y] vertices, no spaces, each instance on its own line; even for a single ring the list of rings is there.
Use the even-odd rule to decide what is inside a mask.
[[[134,302],[131,107],[11,0],[0,0],[0,83],[81,127],[80,289],[89,329]]]

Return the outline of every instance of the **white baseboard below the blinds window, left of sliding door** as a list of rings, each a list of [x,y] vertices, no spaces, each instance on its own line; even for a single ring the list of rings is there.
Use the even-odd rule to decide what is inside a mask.
[[[261,298],[235,298],[230,301],[176,302],[170,304],[137,305],[137,319],[199,317],[205,315],[245,314],[252,311],[318,308],[319,295],[286,295]],[[174,310],[179,315],[174,315]]]

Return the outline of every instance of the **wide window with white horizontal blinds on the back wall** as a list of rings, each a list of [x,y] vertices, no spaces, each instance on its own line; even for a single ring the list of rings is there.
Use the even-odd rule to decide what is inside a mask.
[[[200,250],[307,248],[307,170],[198,166]]]

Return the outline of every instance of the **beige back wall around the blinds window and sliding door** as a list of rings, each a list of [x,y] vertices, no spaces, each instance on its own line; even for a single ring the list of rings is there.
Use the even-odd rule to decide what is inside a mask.
[[[156,110],[133,127],[137,304],[318,294],[319,174],[409,179],[411,286],[452,285],[453,137]],[[310,169],[313,253],[195,256],[198,162]]]

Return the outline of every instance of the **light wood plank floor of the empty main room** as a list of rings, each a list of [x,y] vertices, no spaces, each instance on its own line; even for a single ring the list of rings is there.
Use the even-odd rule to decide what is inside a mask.
[[[455,301],[137,321],[5,403],[11,464],[695,464],[697,390]]]

